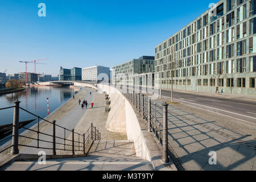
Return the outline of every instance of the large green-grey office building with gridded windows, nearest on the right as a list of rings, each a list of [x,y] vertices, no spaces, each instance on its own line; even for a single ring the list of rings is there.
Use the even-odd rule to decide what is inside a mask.
[[[155,84],[256,94],[256,0],[222,0],[155,47]],[[172,81],[173,80],[173,81]]]

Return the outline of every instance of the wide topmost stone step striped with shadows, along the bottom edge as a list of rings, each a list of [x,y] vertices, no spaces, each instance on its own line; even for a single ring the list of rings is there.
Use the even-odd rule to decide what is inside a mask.
[[[83,158],[49,159],[40,165],[37,161],[12,162],[5,171],[152,171],[151,163],[137,157],[106,157],[89,155]]]

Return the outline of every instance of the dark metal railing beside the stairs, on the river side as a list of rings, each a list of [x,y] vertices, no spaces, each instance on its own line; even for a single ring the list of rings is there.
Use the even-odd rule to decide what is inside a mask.
[[[0,142],[3,142],[5,140],[12,138],[12,144],[11,144],[11,146],[6,147],[2,151],[0,151],[0,154],[3,151],[6,151],[11,147],[12,147],[11,154],[13,154],[13,155],[19,154],[19,146],[52,150],[52,155],[56,155],[57,150],[72,151],[72,155],[75,155],[75,152],[83,152],[85,154],[85,147],[89,144],[90,140],[101,140],[101,133],[96,129],[95,126],[93,126],[93,123],[91,123],[89,129],[84,134],[77,133],[75,131],[75,129],[69,130],[63,126],[57,125],[55,120],[53,120],[51,122],[44,118],[41,118],[39,115],[33,114],[30,111],[23,109],[22,107],[19,106],[19,104],[20,104],[20,102],[17,100],[14,102],[14,106],[5,107],[5,108],[0,109],[0,110],[4,110],[4,109],[9,109],[9,108],[14,107],[13,134],[10,137],[0,140]],[[19,126],[19,110],[20,109],[37,118],[37,122],[38,122],[37,127],[34,127],[34,129],[31,129],[31,128],[28,128],[25,126],[22,126],[22,127]],[[40,119],[41,119],[41,121],[45,121],[52,125],[52,133],[44,133],[44,132],[40,131],[40,127],[39,127]],[[56,127],[59,127],[59,129],[62,130],[61,132],[58,133],[59,136],[56,135]],[[32,133],[35,133],[36,138],[28,137],[24,134],[23,135],[19,134],[19,128],[31,131]],[[72,139],[68,139],[68,137],[69,137],[67,135],[68,132],[70,134],[72,134]],[[52,139],[51,140],[42,139],[43,135],[51,137]],[[60,135],[62,135],[62,137],[60,137]],[[37,144],[36,144],[36,146],[21,144],[21,143],[19,143],[19,138],[36,140]],[[58,139],[60,141],[57,142],[56,139]],[[51,143],[52,147],[42,147],[42,146],[40,146],[39,142]],[[56,144],[59,144],[58,148],[56,148]],[[60,146],[63,146],[63,148],[61,148]]]

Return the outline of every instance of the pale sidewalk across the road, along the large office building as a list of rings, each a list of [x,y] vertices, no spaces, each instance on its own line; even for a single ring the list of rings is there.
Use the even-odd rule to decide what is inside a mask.
[[[164,91],[168,91],[171,92],[170,89],[162,89]],[[204,96],[211,96],[211,97],[218,97],[218,98],[229,98],[229,99],[237,99],[237,100],[247,100],[247,101],[254,101],[256,102],[256,95],[252,96],[252,95],[243,95],[243,94],[230,94],[230,93],[210,93],[210,92],[195,92],[195,91],[185,91],[185,90],[175,90],[174,92],[180,92],[180,93],[191,93],[191,94],[200,94],[200,95],[204,95]]]

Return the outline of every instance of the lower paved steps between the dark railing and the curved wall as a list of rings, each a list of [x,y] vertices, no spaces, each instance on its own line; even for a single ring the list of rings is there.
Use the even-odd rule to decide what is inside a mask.
[[[126,157],[136,156],[134,142],[127,140],[94,141],[88,155]]]

